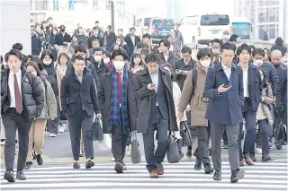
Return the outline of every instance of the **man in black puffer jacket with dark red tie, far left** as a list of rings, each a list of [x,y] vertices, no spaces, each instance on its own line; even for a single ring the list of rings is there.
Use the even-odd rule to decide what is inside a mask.
[[[4,179],[14,182],[14,153],[16,129],[19,137],[17,176],[25,180],[23,169],[28,153],[29,132],[34,117],[39,117],[44,106],[40,80],[21,67],[21,53],[12,49],[5,55],[8,67],[1,72],[1,114],[5,130]]]

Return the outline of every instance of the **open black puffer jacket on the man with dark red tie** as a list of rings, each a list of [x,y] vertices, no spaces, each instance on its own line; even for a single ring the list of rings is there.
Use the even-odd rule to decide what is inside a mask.
[[[40,117],[44,107],[44,93],[39,77],[31,73],[27,73],[24,68],[22,70],[22,96],[23,109],[26,118]],[[10,108],[11,98],[8,87],[9,68],[5,68],[1,72],[1,113]]]

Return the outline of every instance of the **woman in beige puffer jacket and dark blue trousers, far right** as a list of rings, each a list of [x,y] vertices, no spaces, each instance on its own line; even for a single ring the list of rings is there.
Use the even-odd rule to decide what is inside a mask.
[[[269,156],[269,131],[268,128],[274,125],[274,118],[271,115],[269,104],[274,102],[271,86],[266,82],[264,71],[260,68],[261,79],[263,81],[262,101],[257,110],[257,124],[259,136],[262,143],[262,161],[270,161]]]

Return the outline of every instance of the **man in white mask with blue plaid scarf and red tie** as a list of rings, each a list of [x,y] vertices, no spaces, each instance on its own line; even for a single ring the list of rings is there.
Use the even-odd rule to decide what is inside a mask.
[[[133,75],[125,66],[127,54],[121,49],[112,51],[112,71],[103,74],[98,91],[103,114],[103,133],[112,134],[112,155],[115,171],[127,170],[123,161],[128,136],[136,130],[137,108]]]

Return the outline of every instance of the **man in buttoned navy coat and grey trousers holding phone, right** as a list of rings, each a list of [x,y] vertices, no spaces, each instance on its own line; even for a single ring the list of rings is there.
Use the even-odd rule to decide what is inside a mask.
[[[205,117],[211,122],[213,179],[221,179],[221,138],[226,130],[231,183],[238,182],[245,174],[243,169],[239,169],[237,142],[239,124],[243,121],[243,73],[238,65],[232,64],[235,49],[235,45],[229,42],[221,45],[221,62],[208,70],[203,93],[210,99]]]

